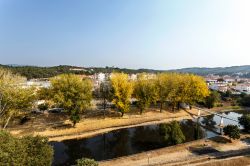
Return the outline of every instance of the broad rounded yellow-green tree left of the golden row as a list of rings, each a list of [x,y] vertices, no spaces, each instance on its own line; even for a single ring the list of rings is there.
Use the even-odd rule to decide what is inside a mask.
[[[74,74],[63,74],[51,79],[50,92],[54,103],[68,112],[75,126],[80,114],[91,104],[92,83]]]

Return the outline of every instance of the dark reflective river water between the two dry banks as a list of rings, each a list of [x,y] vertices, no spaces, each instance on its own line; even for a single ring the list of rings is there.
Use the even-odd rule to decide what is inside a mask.
[[[222,113],[237,120],[246,111]],[[209,115],[198,119],[199,123],[192,120],[180,121],[181,130],[185,136],[185,142],[201,138],[210,138],[221,132],[218,128],[220,117]],[[224,125],[237,124],[237,122],[224,119]],[[205,125],[206,129],[201,127]],[[239,126],[242,128],[241,126]],[[72,165],[75,160],[87,157],[97,161],[127,156],[170,146],[171,143],[164,140],[159,132],[160,125],[147,125],[126,129],[119,129],[91,138],[72,139],[62,142],[50,142],[54,147],[53,165]]]

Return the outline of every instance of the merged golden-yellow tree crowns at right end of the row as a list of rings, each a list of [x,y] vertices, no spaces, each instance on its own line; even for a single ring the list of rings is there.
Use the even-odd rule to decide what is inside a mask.
[[[172,106],[172,110],[180,108],[181,103],[190,106],[201,102],[209,95],[208,87],[199,76],[192,74],[162,73],[156,78],[158,101],[160,110],[166,101]]]

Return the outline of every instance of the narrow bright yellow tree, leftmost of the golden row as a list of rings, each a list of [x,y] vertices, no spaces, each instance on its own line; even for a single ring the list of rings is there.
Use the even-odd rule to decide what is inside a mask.
[[[122,113],[128,112],[130,109],[130,99],[133,93],[133,83],[129,81],[128,75],[124,73],[112,73],[112,102],[118,111]]]

